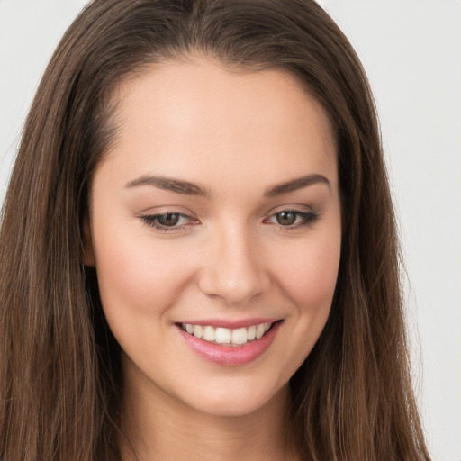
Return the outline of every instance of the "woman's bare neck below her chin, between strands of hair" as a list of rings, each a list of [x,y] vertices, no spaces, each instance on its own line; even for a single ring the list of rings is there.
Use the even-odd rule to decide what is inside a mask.
[[[250,414],[226,416],[198,411],[152,387],[125,384],[122,461],[294,461],[289,449],[288,385]]]

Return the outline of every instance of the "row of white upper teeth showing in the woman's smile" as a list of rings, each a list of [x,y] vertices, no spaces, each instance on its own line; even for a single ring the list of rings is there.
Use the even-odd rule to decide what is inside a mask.
[[[230,346],[240,346],[248,341],[262,338],[267,330],[270,329],[272,323],[260,323],[252,325],[249,328],[238,328],[230,330],[229,328],[213,328],[211,326],[192,325],[191,323],[183,323],[183,330],[187,331],[195,338],[201,338],[205,341],[214,342],[216,344],[228,344]]]

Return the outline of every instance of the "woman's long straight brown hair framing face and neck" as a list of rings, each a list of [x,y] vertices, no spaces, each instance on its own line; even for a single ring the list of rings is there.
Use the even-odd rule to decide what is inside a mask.
[[[330,116],[343,240],[321,338],[291,380],[305,460],[429,460],[411,390],[398,245],[375,106],[312,0],[95,0],[55,51],[25,123],[0,234],[0,458],[116,459],[120,349],[82,266],[95,166],[123,79],[199,50],[283,68]]]

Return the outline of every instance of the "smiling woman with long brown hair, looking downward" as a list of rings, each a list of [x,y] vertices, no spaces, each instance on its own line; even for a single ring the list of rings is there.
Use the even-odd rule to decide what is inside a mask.
[[[314,2],[88,5],[0,252],[5,459],[429,459],[373,100]]]

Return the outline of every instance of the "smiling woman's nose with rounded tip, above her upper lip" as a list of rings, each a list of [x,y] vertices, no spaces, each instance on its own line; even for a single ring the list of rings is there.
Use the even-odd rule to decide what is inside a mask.
[[[217,232],[208,241],[198,285],[203,294],[229,304],[248,303],[266,293],[270,277],[264,251],[244,230]]]

